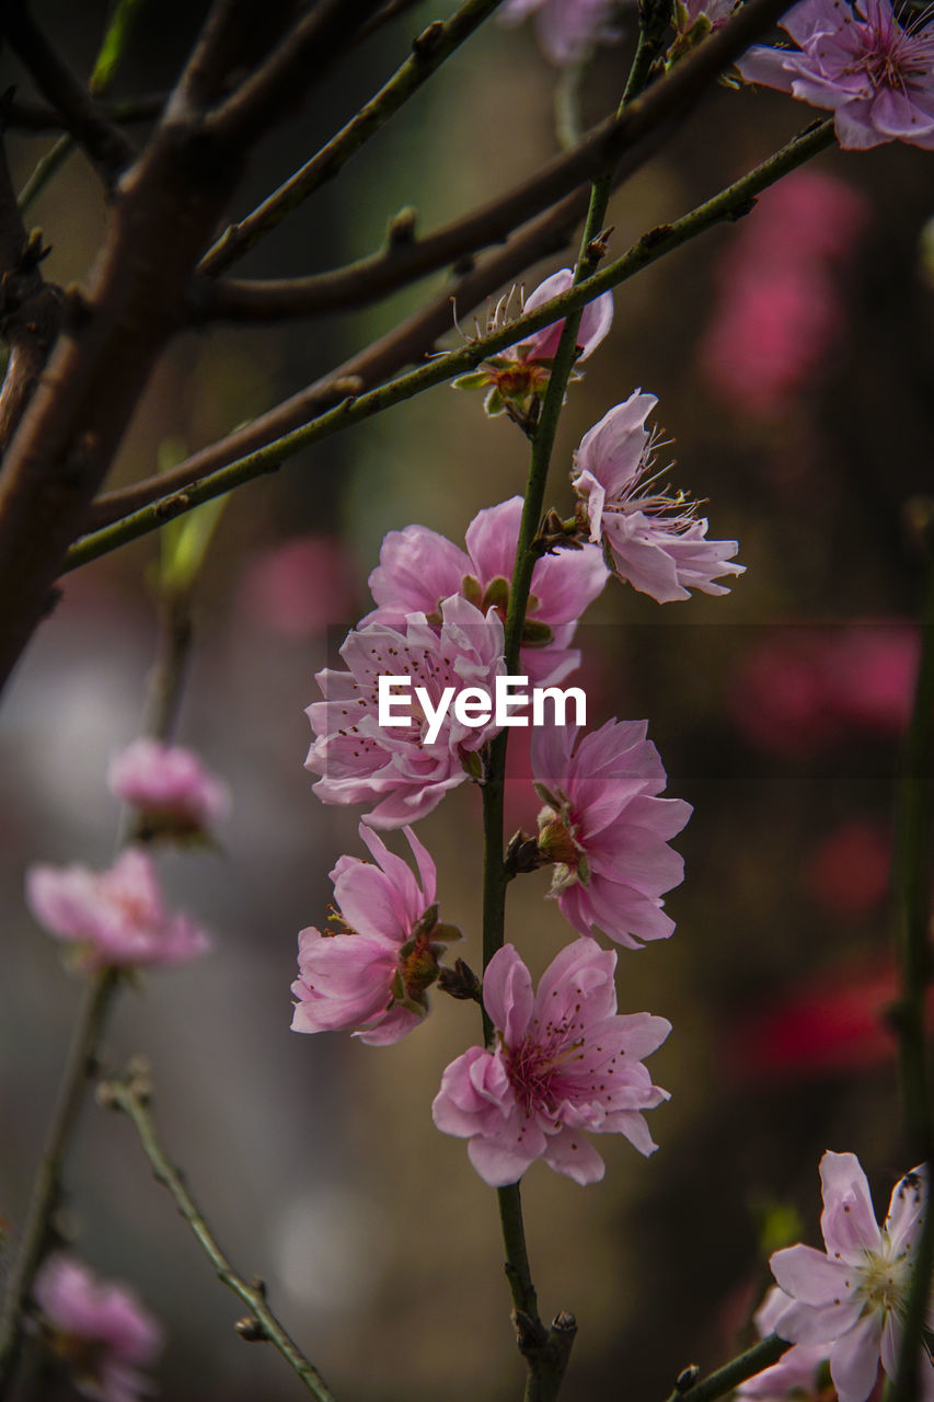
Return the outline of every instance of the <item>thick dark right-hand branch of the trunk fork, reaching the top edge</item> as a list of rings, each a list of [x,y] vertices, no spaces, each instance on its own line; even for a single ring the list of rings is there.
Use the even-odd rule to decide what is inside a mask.
[[[379,7],[380,0],[321,0],[209,115],[206,129],[226,143],[258,140],[300,102]]]

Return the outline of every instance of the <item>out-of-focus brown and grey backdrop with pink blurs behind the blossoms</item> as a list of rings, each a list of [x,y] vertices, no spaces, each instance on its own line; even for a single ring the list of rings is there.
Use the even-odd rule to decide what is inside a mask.
[[[417,6],[360,46],[262,147],[233,213],[352,115],[419,22],[452,8]],[[38,14],[87,73],[105,6],[53,0]],[[114,93],[167,86],[196,20],[178,0],[150,6]],[[627,29],[589,70],[585,122],[618,100],[634,20]],[[3,84],[22,83],[3,63]],[[379,247],[405,205],[431,229],[508,188],[555,150],[554,88],[529,25],[487,25],[243,273],[323,271]],[[611,252],[813,115],[718,88],[616,195]],[[8,144],[22,182],[52,137]],[[572,449],[641,386],[675,440],[662,450],[675,485],[707,501],[711,537],[738,538],[747,566],[729,597],[663,608],[607,587],[579,631],[590,723],[648,716],[668,794],[694,816],[675,843],[686,858],[666,901],[675,937],[621,951],[617,972],[621,1011],[675,1028],[649,1063],[672,1092],[651,1116],[661,1148],[644,1161],[607,1136],[603,1185],[579,1189],[543,1165],[523,1183],[543,1315],[572,1309],[581,1325],[568,1402],[623,1388],[662,1398],[686,1364],[746,1345],[769,1249],[783,1230],[818,1239],[825,1148],[860,1155],[881,1210],[910,1166],[882,1012],[895,993],[892,775],[917,644],[903,508],[930,491],[934,436],[930,174],[928,153],[899,144],[819,157],[746,219],[623,286],[613,332],[568,397],[550,488],[564,515]],[[86,275],[102,215],[72,157],[29,215],[53,245],[50,279]],[[534,269],[529,290],[557,265]],[[181,339],[140,404],[119,479],[269,408],[425,296]],[[177,736],[230,781],[234,810],[222,852],[161,862],[216,951],[125,994],[107,1037],[111,1067],[137,1052],[151,1060],[165,1145],[217,1237],[355,1402],[505,1402],[522,1370],[494,1195],[429,1116],[443,1067],[478,1037],[477,1009],[435,995],[426,1023],[386,1050],[289,1030],[297,931],[325,918],[335,859],[362,852],[358,812],[311,794],[303,708],[317,700],[328,629],[332,646],[370,607],[383,534],[419,522],[461,543],[477,510],[522,491],[526,460],[519,430],[485,419],[478,395],[439,387],[236,494],[196,600]],[[22,875],[32,861],[111,861],[118,813],[104,775],[140,725],[156,550],[150,537],[67,576],[0,714],[0,1214],[14,1235],[79,998],[24,907]],[[520,778],[509,809],[513,827],[534,822]],[[442,918],[466,932],[460,952],[478,967],[478,794],[457,789],[419,837],[438,861]],[[568,938],[547,885],[543,872],[509,893],[509,938],[536,973]],[[132,1281],[165,1325],[164,1396],[300,1394],[271,1350],[234,1335],[243,1309],[125,1120],[87,1106],[67,1189],[76,1251]],[[55,1398],[70,1395],[62,1384]]]

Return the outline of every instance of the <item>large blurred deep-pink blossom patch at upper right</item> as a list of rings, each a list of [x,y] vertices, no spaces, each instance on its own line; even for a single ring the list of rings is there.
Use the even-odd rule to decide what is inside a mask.
[[[698,365],[731,407],[780,415],[818,377],[847,325],[841,265],[868,220],[843,181],[795,171],[764,191],[719,265]]]

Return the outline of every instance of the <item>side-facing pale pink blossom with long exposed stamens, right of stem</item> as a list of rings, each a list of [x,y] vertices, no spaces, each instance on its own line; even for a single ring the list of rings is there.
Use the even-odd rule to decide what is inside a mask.
[[[654,394],[637,390],[595,423],[574,456],[574,489],[590,540],[603,541],[620,579],[658,603],[690,599],[691,589],[725,594],[714,579],[742,575],[729,564],[735,540],[707,540],[707,522],[683,492],[668,494],[658,484],[652,449],[656,435],[645,429],[655,408]]]

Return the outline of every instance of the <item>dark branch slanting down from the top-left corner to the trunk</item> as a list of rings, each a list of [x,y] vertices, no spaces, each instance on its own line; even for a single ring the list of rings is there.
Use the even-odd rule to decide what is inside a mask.
[[[0,7],[0,29],[42,95],[60,114],[65,129],[112,185],[135,156],[126,133],[108,121],[84,84],[59,57],[24,0],[7,0]]]

